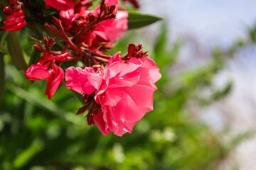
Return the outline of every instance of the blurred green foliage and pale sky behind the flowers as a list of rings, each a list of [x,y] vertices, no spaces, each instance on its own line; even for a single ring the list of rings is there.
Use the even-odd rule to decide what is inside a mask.
[[[0,56],[0,169],[255,169],[256,1],[139,3],[164,21],[127,31],[110,54],[130,42],[149,50],[163,76],[154,111],[131,134],[103,136],[75,115],[82,103],[69,89],[49,101],[46,81],[31,84]]]

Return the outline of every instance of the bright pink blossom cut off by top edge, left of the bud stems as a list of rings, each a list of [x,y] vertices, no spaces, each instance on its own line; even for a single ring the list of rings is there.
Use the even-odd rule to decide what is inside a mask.
[[[62,11],[73,8],[75,6],[75,2],[73,0],[46,0],[46,8],[48,8],[48,6]]]

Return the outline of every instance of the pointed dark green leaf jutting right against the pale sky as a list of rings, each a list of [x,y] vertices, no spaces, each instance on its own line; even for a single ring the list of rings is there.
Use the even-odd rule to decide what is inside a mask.
[[[128,16],[128,29],[142,28],[144,26],[149,26],[151,23],[161,20],[162,18],[158,16],[151,16],[148,14],[138,13],[134,11],[129,11]]]

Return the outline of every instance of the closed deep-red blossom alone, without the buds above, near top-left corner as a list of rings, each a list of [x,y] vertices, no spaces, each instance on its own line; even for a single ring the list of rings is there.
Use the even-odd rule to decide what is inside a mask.
[[[6,18],[3,24],[4,26],[2,26],[1,28],[4,30],[21,30],[26,25],[26,20],[23,11],[21,9],[18,11],[14,11],[14,13],[11,13],[11,15]]]

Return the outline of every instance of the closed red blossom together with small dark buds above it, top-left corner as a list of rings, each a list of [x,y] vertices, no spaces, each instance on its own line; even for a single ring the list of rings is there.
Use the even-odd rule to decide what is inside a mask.
[[[4,26],[1,28],[9,31],[21,30],[26,25],[25,16],[21,9],[22,2],[17,0],[9,0],[11,6],[6,6],[4,8],[4,13],[9,15],[3,22]]]

